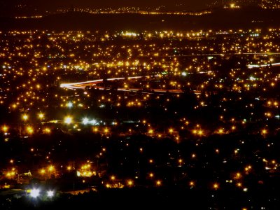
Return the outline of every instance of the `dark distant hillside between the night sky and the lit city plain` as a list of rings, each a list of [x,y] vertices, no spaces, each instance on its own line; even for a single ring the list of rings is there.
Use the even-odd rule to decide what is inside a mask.
[[[0,18],[1,29],[52,30],[160,30],[160,29],[235,29],[280,27],[280,10],[260,8],[222,9],[211,14],[141,15],[141,14],[89,14],[63,13],[43,18]]]

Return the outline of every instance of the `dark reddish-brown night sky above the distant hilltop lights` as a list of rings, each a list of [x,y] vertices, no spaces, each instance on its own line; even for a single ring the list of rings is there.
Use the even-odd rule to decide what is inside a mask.
[[[205,8],[207,4],[215,2],[215,0],[0,0],[1,5],[18,5],[20,3],[36,6],[38,8],[55,9],[66,7],[80,8],[115,8],[123,6],[139,6],[139,7],[156,7],[165,6],[165,8],[183,8],[183,9],[200,9]]]

